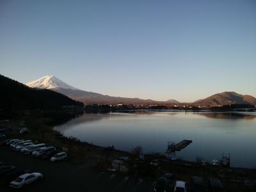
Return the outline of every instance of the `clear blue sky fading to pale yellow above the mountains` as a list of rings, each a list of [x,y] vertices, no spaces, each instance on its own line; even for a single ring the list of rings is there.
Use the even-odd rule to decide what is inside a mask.
[[[256,97],[256,1],[0,0],[0,74],[111,96]]]

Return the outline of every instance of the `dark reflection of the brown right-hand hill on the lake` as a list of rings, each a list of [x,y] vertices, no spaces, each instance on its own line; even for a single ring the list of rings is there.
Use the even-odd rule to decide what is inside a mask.
[[[245,119],[245,120],[253,120],[254,118],[256,118],[256,115],[252,115],[250,113],[198,113],[199,115],[204,115],[208,118],[222,118],[222,119]]]

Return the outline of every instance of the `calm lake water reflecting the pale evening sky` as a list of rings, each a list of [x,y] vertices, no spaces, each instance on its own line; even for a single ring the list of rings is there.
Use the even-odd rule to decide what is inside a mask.
[[[184,111],[84,114],[55,127],[100,146],[165,152],[168,141],[193,140],[177,153],[182,159],[207,161],[230,153],[231,166],[256,168],[256,114]]]

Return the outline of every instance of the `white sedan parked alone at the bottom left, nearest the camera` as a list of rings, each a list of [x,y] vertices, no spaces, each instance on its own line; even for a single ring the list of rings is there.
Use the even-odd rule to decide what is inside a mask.
[[[17,179],[10,182],[9,186],[11,188],[21,188],[24,185],[27,185],[42,178],[42,173],[25,173],[24,175],[20,175]]]

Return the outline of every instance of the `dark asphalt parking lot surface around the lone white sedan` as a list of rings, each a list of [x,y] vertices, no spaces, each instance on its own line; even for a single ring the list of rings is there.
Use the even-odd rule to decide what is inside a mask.
[[[0,161],[17,169],[40,172],[42,180],[29,184],[20,191],[154,191],[156,182],[150,179],[131,178],[114,172],[96,172],[81,164],[51,163],[0,147]],[[4,184],[1,176],[0,191],[15,191]]]

